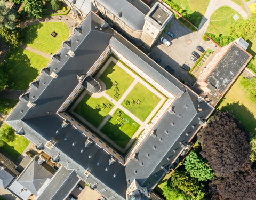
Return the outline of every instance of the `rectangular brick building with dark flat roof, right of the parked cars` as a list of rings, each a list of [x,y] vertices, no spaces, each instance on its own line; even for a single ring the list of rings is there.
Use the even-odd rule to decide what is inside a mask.
[[[198,77],[201,94],[215,106],[241,74],[252,55],[246,49],[248,43],[242,38],[221,48]]]

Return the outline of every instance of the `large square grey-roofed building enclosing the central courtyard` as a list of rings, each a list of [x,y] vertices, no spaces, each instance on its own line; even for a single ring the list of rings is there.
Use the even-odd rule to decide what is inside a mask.
[[[164,97],[163,106],[155,109],[149,123],[142,123],[141,134],[125,153],[69,111],[83,91],[99,94],[105,90],[97,73],[111,58],[122,62],[126,71],[133,71],[138,81],[149,84]],[[75,173],[104,197],[148,199],[157,183],[187,153],[191,139],[213,110],[204,99],[90,12],[29,90],[21,95],[5,122],[59,162],[67,174]],[[31,164],[37,166],[38,161]],[[25,173],[26,169],[21,176]],[[51,184],[57,172],[53,176],[47,174],[45,186],[46,182]],[[17,182],[36,183],[29,175],[24,179]],[[31,192],[37,193],[38,199],[46,194],[35,184],[29,183],[27,187],[32,187]],[[49,199],[59,189],[49,188]],[[65,197],[54,196],[54,199]]]

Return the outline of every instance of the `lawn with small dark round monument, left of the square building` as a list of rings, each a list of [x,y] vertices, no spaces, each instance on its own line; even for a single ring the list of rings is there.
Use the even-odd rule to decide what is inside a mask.
[[[53,38],[52,31],[58,35]],[[45,22],[23,29],[24,41],[28,46],[50,54],[60,49],[61,43],[68,38],[68,26],[63,22]]]

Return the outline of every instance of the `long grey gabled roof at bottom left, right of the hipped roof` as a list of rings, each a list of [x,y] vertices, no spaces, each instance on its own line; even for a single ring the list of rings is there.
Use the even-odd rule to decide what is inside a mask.
[[[36,200],[63,200],[70,194],[79,180],[75,170],[67,170],[61,166],[52,177],[49,185],[47,185],[43,193]]]

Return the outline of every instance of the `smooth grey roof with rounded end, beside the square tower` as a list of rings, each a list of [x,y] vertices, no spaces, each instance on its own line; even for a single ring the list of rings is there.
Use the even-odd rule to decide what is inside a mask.
[[[101,5],[106,7],[111,13],[121,19],[127,26],[133,30],[142,30],[145,23],[146,14],[142,13],[134,5],[126,0],[97,0]],[[146,10],[145,5],[144,10]],[[149,12],[148,8],[148,12]],[[122,12],[122,17],[119,17],[119,13]]]

